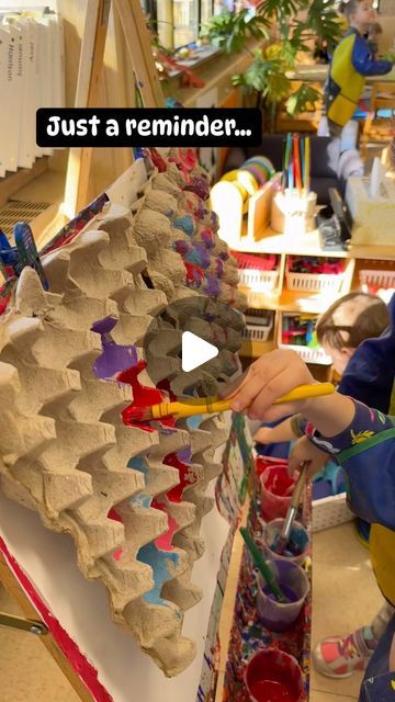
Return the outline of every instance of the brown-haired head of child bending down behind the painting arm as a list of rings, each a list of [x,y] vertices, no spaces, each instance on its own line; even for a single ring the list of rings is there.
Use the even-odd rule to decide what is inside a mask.
[[[376,295],[345,295],[318,319],[318,342],[332,358],[335,371],[341,374],[349,360],[365,339],[380,337],[390,324],[385,303]]]

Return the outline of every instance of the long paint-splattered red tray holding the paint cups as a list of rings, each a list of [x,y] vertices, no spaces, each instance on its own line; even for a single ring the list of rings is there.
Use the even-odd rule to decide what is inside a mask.
[[[262,528],[264,522],[260,514],[260,480],[256,472],[247,529],[257,545],[263,548]],[[302,521],[311,534],[312,494],[309,487],[306,490],[303,505]],[[312,581],[312,559],[309,556],[307,556],[304,563],[304,568],[309,581]],[[258,618],[257,574],[258,570],[253,567],[251,556],[247,547],[244,546],[238,574],[222,702],[250,702],[244,678],[246,665],[257,650],[269,646],[280,648],[296,658],[304,675],[307,702],[311,665],[311,595],[307,596],[296,623],[290,630],[281,634],[270,632],[261,624]]]

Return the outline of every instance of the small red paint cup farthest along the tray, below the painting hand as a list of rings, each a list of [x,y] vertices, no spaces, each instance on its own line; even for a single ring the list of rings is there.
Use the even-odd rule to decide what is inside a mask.
[[[266,522],[285,517],[291,505],[290,488],[295,484],[285,465],[272,465],[261,475],[261,512]]]

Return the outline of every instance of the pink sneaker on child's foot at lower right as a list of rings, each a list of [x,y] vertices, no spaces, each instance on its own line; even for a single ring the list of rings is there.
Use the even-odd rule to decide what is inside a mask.
[[[370,648],[366,638],[370,641]],[[324,638],[313,650],[314,666],[327,678],[349,678],[357,670],[366,668],[376,643],[370,626],[358,629],[349,636]]]

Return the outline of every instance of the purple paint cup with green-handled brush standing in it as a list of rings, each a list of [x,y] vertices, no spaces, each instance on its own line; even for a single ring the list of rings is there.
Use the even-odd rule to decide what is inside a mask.
[[[295,623],[309,591],[308,578],[296,563],[275,558],[268,561],[280,588],[290,600],[282,604],[270,591],[262,576],[258,575],[257,609],[263,626],[271,632],[285,632]]]

